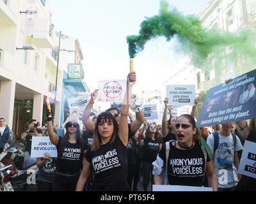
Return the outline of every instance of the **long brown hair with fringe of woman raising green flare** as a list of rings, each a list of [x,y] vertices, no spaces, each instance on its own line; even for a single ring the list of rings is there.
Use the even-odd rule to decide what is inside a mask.
[[[92,151],[96,152],[97,150],[100,149],[100,143],[101,143],[101,137],[99,134],[99,123],[100,122],[113,122],[114,124],[114,129],[113,129],[113,134],[111,136],[110,139],[110,143],[115,142],[116,136],[118,135],[118,123],[116,122],[115,117],[109,113],[109,112],[103,112],[100,113],[100,115],[97,117],[97,121],[95,124],[95,129],[94,129],[94,133],[93,133],[93,142],[92,142]]]

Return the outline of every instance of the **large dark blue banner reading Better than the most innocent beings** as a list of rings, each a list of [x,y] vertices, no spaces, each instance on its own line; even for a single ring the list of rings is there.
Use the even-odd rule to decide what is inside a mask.
[[[197,128],[256,117],[256,69],[209,90]]]

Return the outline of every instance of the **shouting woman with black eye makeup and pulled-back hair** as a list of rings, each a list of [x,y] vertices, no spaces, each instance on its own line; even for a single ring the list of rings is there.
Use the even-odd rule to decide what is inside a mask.
[[[218,180],[212,163],[212,152],[198,133],[195,119],[188,114],[180,115],[175,122],[175,132],[177,141],[169,142],[170,151],[167,166],[166,144],[163,145],[156,161],[153,163],[155,184],[162,184],[163,172],[167,168],[168,184],[202,187],[205,172],[207,172],[209,187],[218,191]]]

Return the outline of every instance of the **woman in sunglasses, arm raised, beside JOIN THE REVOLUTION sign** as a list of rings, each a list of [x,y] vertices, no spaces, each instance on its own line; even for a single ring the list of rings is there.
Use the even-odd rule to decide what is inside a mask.
[[[46,111],[49,113],[49,110]],[[47,114],[47,131],[52,143],[56,145],[58,159],[56,162],[56,175],[52,185],[52,191],[75,191],[77,180],[81,173],[84,154],[84,144],[81,138],[79,124],[69,121],[65,125],[64,137],[54,133],[52,118]]]

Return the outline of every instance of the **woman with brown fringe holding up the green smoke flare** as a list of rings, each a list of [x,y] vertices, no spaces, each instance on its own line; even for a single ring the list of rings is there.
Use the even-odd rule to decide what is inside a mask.
[[[95,173],[94,191],[129,191],[126,147],[128,143],[127,115],[131,101],[131,89],[135,82],[135,72],[129,73],[119,127],[115,117],[109,112],[100,113],[97,117],[92,147],[84,154],[83,170],[77,182],[76,191],[83,191],[91,168]]]

